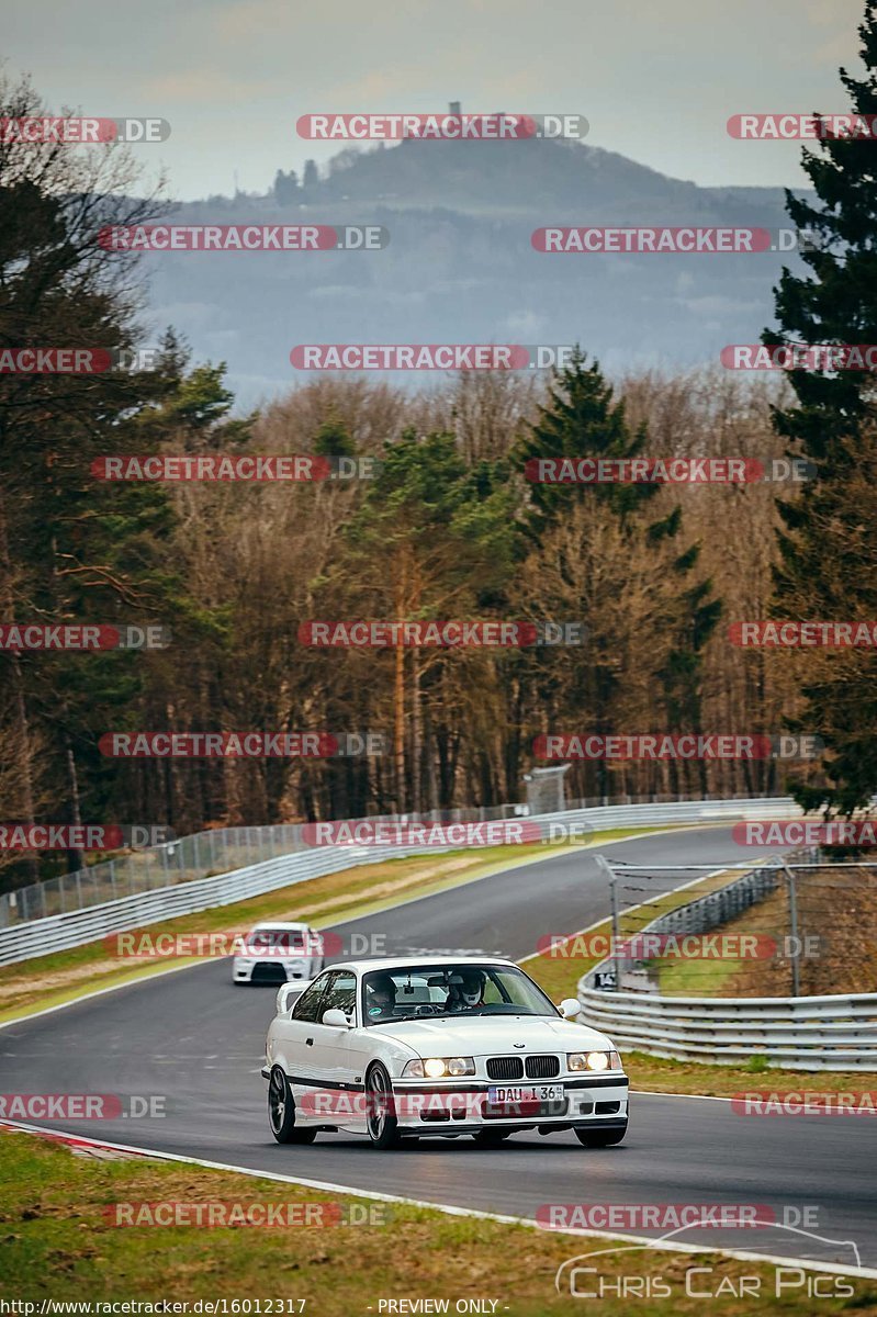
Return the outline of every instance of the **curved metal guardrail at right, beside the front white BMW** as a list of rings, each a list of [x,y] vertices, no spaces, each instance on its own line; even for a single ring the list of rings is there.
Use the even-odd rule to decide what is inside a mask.
[[[877,1071],[877,993],[653,997],[578,985],[585,1023],[619,1051],[739,1065],[764,1055],[797,1071]]]

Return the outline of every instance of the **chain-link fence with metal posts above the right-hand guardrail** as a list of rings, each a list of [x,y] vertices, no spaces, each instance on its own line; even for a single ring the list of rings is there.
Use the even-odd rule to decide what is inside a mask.
[[[731,876],[604,860],[610,955],[603,990],[661,997],[877,992],[877,863],[795,852]],[[687,873],[697,874],[681,882]]]

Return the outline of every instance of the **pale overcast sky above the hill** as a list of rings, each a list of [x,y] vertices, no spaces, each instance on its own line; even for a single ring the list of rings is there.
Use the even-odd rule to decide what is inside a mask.
[[[803,182],[794,142],[741,142],[739,112],[847,109],[863,0],[3,0],[7,70],[53,109],[151,115],[180,199],[265,191],[337,146],[331,111],[582,113],[589,141],[702,184]]]

